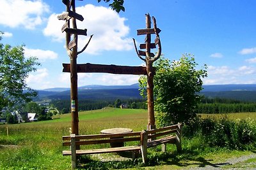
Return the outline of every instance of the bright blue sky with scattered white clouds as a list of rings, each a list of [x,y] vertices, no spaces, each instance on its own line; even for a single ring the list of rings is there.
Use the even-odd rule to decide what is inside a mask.
[[[26,82],[33,89],[70,87],[70,73],[62,73],[62,63],[70,63],[65,50],[65,23],[57,16],[65,12],[61,0],[0,0],[1,43],[26,45],[25,57],[37,57],[41,66]],[[179,60],[182,54],[195,55],[198,69],[207,64],[205,85],[256,84],[256,1],[238,0],[125,0],[125,12],[116,13],[104,1],[76,1],[76,12],[83,15],[77,28],[87,29],[79,36],[81,50],[90,35],[88,48],[77,58],[78,64],[143,66],[134,50],[145,36],[145,14],[157,21],[162,54]],[[152,39],[155,35],[152,34]],[[156,50],[152,49],[152,52]],[[78,86],[131,85],[136,75],[78,73]]]

